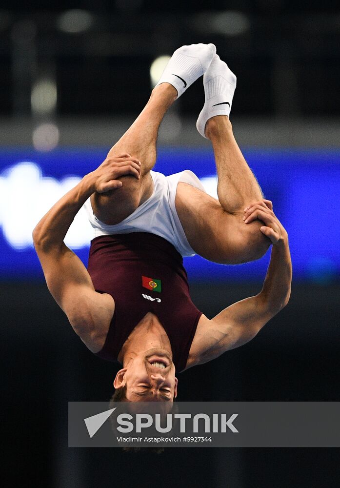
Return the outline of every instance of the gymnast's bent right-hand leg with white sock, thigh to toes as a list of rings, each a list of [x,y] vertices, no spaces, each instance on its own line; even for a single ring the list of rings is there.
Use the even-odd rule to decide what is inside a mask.
[[[263,196],[229,121],[236,77],[216,55],[203,83],[205,104],[197,128],[213,145],[219,201],[179,183],[176,208],[195,252],[217,263],[252,261],[265,253],[270,242],[260,232],[260,221],[249,225],[243,222],[244,208]]]

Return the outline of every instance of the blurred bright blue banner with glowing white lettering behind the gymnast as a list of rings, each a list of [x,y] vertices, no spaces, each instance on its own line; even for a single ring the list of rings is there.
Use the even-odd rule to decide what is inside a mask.
[[[0,278],[43,279],[32,229],[68,188],[101,163],[106,152],[104,148],[0,152]],[[244,155],[289,233],[294,279],[334,282],[340,276],[340,151],[248,148]],[[166,175],[191,169],[208,192],[216,191],[215,163],[209,149],[160,148],[154,169]],[[81,214],[70,232],[73,237],[66,240],[85,264],[91,230]],[[269,256],[267,252],[259,261],[234,266],[195,256],[184,258],[184,264],[193,282],[258,281],[265,275]]]

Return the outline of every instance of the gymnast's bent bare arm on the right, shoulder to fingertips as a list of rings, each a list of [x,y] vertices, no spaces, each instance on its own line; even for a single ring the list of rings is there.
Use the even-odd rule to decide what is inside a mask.
[[[206,320],[204,328],[197,331],[200,335],[195,336],[196,351],[192,351],[193,361],[188,367],[211,361],[223,352],[249,342],[288,303],[292,264],[287,232],[274,215],[269,201],[249,206],[245,212],[247,224],[256,219],[264,223],[260,230],[273,244],[262,290],[254,297],[228,306],[212,320]]]

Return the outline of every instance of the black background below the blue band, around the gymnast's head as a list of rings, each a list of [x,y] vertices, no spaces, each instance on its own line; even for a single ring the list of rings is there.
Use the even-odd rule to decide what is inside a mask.
[[[212,317],[259,286],[197,284],[191,291]],[[108,400],[117,366],[86,349],[45,285],[7,283],[0,293],[6,454],[25,486],[339,486],[338,448],[68,448],[67,402]],[[339,285],[293,286],[289,305],[252,342],[180,373],[178,399],[340,401],[339,294]]]

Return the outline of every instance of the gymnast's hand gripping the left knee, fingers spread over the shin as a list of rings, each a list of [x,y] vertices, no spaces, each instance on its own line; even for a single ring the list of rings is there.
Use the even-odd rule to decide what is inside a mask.
[[[94,191],[105,193],[122,186],[118,180],[120,176],[132,175],[140,179],[140,161],[130,154],[121,154],[114,158],[107,158],[91,173],[94,177]]]

